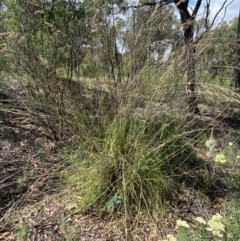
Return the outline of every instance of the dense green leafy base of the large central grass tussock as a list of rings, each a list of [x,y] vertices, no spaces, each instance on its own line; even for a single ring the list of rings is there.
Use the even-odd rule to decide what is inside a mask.
[[[65,171],[68,187],[80,196],[79,206],[100,203],[113,211],[123,205],[128,212],[161,208],[174,169],[191,156],[179,130],[180,124],[166,117],[141,120],[129,112],[117,114],[103,138],[91,139],[97,148],[76,152]]]

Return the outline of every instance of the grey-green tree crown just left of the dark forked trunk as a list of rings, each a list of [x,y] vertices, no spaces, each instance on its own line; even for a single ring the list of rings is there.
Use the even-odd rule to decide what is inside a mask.
[[[132,75],[137,74],[147,63],[156,65],[165,51],[171,48],[176,38],[177,25],[173,6],[139,5],[128,17],[124,33],[125,53],[129,55]]]

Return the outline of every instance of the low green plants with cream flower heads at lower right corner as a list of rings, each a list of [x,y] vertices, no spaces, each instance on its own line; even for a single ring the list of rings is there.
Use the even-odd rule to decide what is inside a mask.
[[[208,140],[206,142],[208,148],[215,147],[216,140]],[[212,151],[216,151],[215,148]],[[216,154],[215,161],[221,165],[224,163],[225,170],[223,174],[228,189],[231,190],[231,195],[223,205],[222,213],[215,214],[209,220],[204,220],[201,217],[194,218],[194,225],[181,224],[177,221],[177,231],[175,237],[177,240],[239,240],[239,150],[233,142],[229,142],[220,153]]]

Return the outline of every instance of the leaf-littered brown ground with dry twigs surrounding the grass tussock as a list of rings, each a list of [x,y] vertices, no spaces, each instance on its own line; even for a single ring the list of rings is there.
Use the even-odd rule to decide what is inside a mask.
[[[139,217],[134,223],[126,220],[121,210],[112,216],[99,216],[95,208],[77,213],[75,207],[64,201],[64,195],[70,194],[61,192],[64,168],[58,151],[61,143],[36,123],[18,100],[18,94],[13,98],[10,93],[0,93],[0,240],[110,241],[126,240],[126,237],[127,240],[159,240],[174,230],[177,218],[208,219],[220,208],[229,191],[221,183],[218,185],[216,178],[215,186],[209,188],[212,192],[207,194],[211,203],[205,205],[205,197],[189,185],[190,195],[182,193],[180,198],[178,190],[172,193],[168,214],[154,220]],[[210,109],[197,118],[209,130],[214,127],[223,142],[239,143],[238,118]],[[194,134],[186,138],[194,138]],[[185,175],[189,183],[201,185],[195,174],[189,171]],[[129,228],[125,229],[126,226]]]

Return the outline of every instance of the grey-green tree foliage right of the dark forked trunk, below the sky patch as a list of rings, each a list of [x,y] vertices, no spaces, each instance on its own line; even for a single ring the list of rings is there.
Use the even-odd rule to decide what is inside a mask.
[[[209,79],[221,86],[229,87],[232,81],[232,68],[235,65],[237,18],[223,21],[208,31],[197,45],[197,68],[205,81]],[[232,39],[234,41],[229,41]]]

